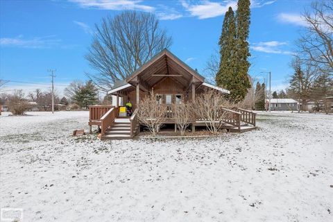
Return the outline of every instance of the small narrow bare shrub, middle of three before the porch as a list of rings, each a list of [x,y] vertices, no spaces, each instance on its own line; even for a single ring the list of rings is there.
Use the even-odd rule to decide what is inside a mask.
[[[182,101],[180,104],[173,105],[173,112],[175,113],[177,128],[180,131],[180,135],[184,135],[186,128],[194,119],[193,105],[192,103]]]

